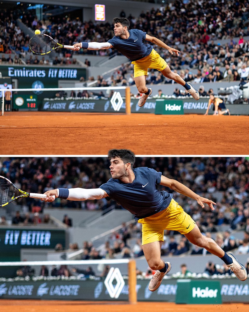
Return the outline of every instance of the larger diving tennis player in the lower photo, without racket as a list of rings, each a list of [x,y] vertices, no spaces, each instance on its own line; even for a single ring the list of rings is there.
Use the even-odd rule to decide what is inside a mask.
[[[57,188],[45,192],[45,201],[54,197],[68,200],[114,199],[131,212],[135,220],[142,223],[142,246],[144,256],[152,270],[157,270],[150,280],[149,290],[156,290],[170,269],[170,262],[161,258],[164,230],[178,231],[197,246],[221,258],[240,280],[246,280],[247,271],[230,253],[224,252],[216,242],[201,234],[195,221],[172,198],[171,193],[159,192],[157,186],[163,185],[193,198],[204,208],[208,204],[214,210],[215,202],[201,197],[176,180],[169,179],[154,169],[134,168],[135,155],[128,149],[112,149],[108,153],[112,178],[99,188]]]

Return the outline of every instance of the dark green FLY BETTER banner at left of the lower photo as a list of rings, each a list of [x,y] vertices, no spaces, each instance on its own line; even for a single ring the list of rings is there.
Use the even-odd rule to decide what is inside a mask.
[[[21,248],[54,249],[65,247],[65,230],[0,228],[0,261],[20,261]]]

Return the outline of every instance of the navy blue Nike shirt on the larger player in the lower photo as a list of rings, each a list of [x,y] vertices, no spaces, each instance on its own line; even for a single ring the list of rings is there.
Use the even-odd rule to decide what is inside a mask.
[[[166,191],[159,192],[157,185],[161,182],[162,173],[147,167],[135,168],[133,172],[135,178],[132,183],[110,178],[100,188],[133,213],[136,221],[166,209],[173,195]]]

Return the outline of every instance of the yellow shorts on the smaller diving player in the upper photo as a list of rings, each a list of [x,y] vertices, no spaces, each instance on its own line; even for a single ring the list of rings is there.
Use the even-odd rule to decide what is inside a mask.
[[[133,61],[131,64],[134,64],[134,78],[139,76],[147,76],[148,68],[154,68],[158,71],[163,71],[168,65],[154,49],[152,49],[150,55],[145,56],[138,61]]]

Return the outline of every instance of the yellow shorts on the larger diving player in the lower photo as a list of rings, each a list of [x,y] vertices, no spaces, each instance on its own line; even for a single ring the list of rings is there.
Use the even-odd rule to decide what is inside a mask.
[[[180,205],[171,199],[169,206],[153,216],[139,219],[142,223],[142,245],[154,241],[163,241],[164,230],[189,233],[195,227],[195,221]]]

